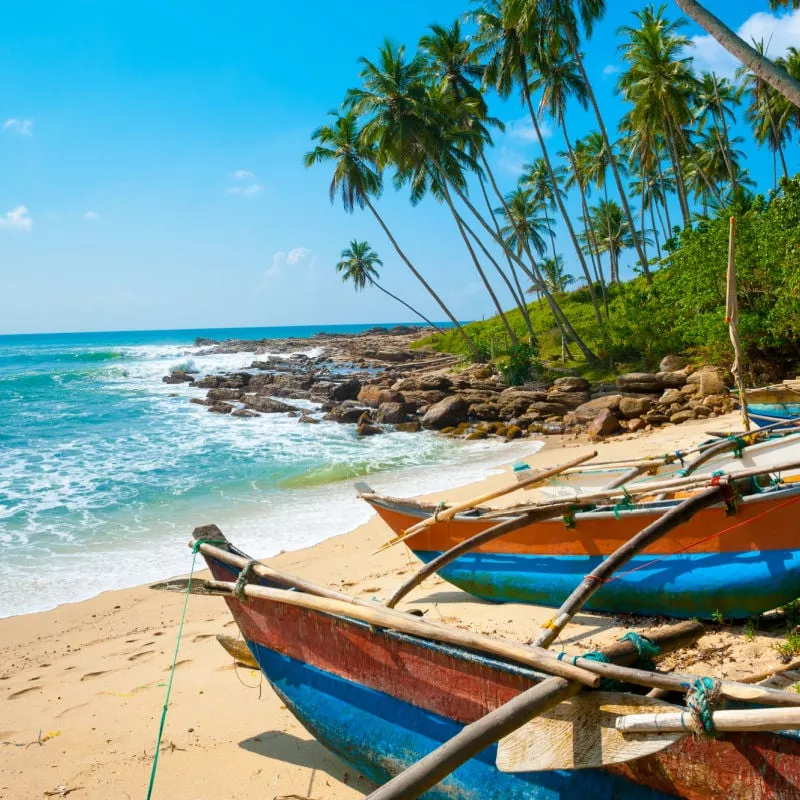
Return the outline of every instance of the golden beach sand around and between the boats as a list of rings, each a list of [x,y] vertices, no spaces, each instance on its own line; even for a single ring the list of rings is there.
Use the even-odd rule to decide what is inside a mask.
[[[730,415],[617,437],[597,446],[599,459],[672,452],[707,438],[708,430],[736,429],[738,423]],[[553,465],[588,449],[583,442],[548,439],[531,463]],[[509,480],[504,471],[435,499],[465,499]],[[185,533],[188,541],[190,531]],[[385,599],[417,566],[404,547],[371,556],[388,537],[373,518],[269,563],[357,596]],[[175,546],[184,541],[176,539]],[[0,798],[146,796],[182,603],[180,595],[138,587],[0,620]],[[523,640],[550,614],[534,606],[481,603],[437,577],[415,590],[407,605],[429,609],[432,619]],[[561,642],[579,652],[619,636],[620,626],[652,622],[580,614]],[[372,784],[312,739],[259,673],[234,666],[215,641],[220,632],[237,633],[223,601],[192,596],[153,797],[348,800],[368,794]],[[666,663],[739,677],[776,662],[772,646],[782,633],[777,628],[747,638],[741,628],[711,625],[697,646]]]

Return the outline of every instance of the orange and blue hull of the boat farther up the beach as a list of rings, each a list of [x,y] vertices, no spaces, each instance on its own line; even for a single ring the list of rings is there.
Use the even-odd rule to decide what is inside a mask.
[[[365,498],[395,533],[433,507]],[[743,618],[800,596],[800,488],[765,492],[741,502],[735,516],[722,507],[700,511],[648,547],[601,587],[587,609],[683,618],[717,613]],[[583,576],[669,508],[577,514],[573,527],[548,520],[520,528],[467,553],[439,571],[470,594],[498,602],[559,606]],[[464,514],[406,540],[424,562],[501,520]],[[732,526],[732,530],[719,534]]]

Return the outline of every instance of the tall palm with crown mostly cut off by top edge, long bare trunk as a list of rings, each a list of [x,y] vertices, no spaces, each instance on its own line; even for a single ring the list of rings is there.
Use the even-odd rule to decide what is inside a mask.
[[[567,41],[572,57],[575,59],[575,65],[586,87],[586,95],[592,105],[592,110],[594,111],[595,119],[600,129],[600,136],[609,153],[609,165],[611,166],[611,172],[617,186],[617,194],[622,203],[622,208],[625,211],[625,216],[628,219],[628,224],[633,228],[633,214],[628,204],[625,188],[622,185],[622,175],[618,160],[613,154],[608,131],[603,121],[603,115],[600,113],[600,105],[592,89],[589,76],[586,74],[586,69],[583,65],[583,56],[578,46],[580,40],[578,17],[580,17],[581,26],[583,27],[586,38],[591,38],[594,23],[601,20],[605,15],[605,0],[526,0],[526,5],[528,15],[533,19],[538,16],[541,20],[538,25],[540,37],[552,41],[555,38],[554,32],[558,31]],[[645,275],[649,280],[647,257],[644,253],[644,249],[640,248],[638,243],[637,252],[639,260],[642,262],[643,269],[645,270]]]

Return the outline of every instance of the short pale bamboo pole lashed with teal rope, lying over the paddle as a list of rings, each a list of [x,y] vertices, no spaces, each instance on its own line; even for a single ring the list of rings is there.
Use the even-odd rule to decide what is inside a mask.
[[[714,728],[726,731],[784,731],[800,728],[800,708],[726,709],[711,714]],[[692,733],[689,711],[665,714],[626,714],[617,717],[616,728],[624,733]]]

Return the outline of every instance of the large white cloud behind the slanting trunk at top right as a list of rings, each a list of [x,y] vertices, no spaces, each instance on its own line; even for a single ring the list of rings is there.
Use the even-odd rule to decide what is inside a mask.
[[[749,16],[736,33],[748,44],[764,40],[771,58],[782,56],[788,47],[800,42],[800,9],[789,14],[769,14],[758,11]],[[693,36],[694,67],[698,72],[716,72],[733,78],[740,62],[712,36]]]

